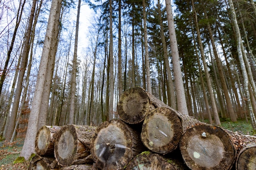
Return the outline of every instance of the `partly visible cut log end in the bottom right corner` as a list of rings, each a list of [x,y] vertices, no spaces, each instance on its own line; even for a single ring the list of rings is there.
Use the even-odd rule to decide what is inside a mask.
[[[256,144],[248,144],[238,154],[237,170],[256,170]]]

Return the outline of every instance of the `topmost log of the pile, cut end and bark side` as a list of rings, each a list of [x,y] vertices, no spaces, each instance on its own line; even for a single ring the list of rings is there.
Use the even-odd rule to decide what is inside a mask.
[[[126,90],[119,99],[117,111],[120,119],[124,122],[138,124],[144,121],[146,114],[158,107],[165,107],[173,111],[181,120],[183,132],[196,124],[202,124],[199,120],[184,115],[169,107],[141,87],[134,87]]]

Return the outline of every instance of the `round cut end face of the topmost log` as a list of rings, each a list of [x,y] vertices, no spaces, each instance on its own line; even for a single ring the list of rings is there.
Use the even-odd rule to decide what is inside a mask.
[[[139,87],[126,90],[117,105],[120,119],[130,124],[142,122],[148,109],[150,109],[149,98]]]

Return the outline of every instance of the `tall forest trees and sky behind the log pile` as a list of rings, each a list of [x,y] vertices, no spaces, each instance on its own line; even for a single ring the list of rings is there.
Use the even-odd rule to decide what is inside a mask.
[[[26,136],[33,150],[43,125],[99,126],[118,118],[132,87],[200,121],[243,119],[256,131],[255,3],[0,0],[0,138]]]

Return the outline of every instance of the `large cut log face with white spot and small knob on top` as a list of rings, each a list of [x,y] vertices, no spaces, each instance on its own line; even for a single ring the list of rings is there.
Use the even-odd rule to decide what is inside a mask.
[[[207,124],[188,129],[181,138],[180,151],[192,170],[229,170],[236,155],[229,135],[220,127]]]

